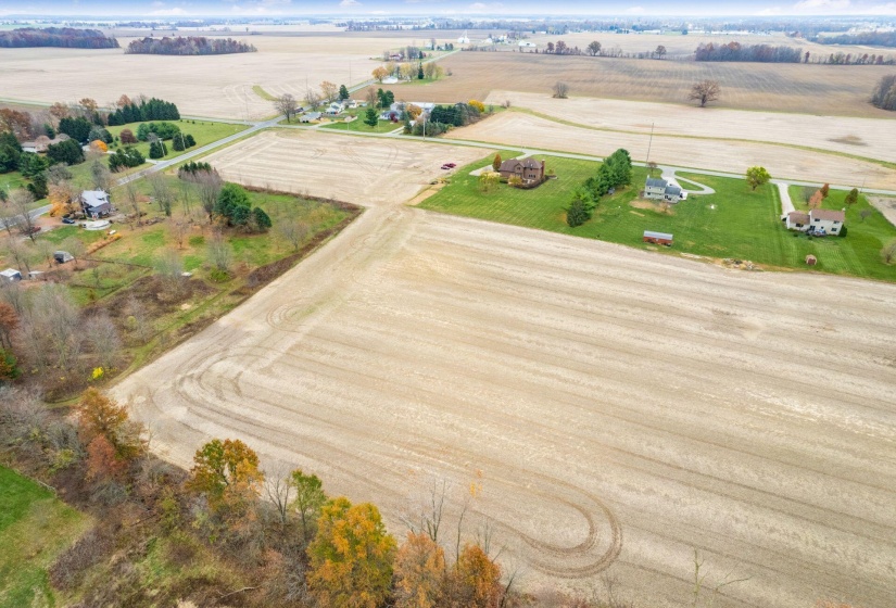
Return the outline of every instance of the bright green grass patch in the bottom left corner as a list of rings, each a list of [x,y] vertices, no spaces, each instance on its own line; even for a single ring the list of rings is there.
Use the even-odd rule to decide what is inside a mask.
[[[0,467],[0,608],[53,606],[47,568],[88,522],[49,490]]]

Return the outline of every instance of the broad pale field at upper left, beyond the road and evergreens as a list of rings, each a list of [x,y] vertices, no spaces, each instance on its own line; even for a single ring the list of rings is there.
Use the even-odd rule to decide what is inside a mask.
[[[306,83],[363,81],[379,65],[371,55],[403,39],[244,36],[256,53],[211,56],[127,55],[124,49],[0,49],[0,97],[52,103],[84,97],[100,104],[122,93],[177,103],[182,114],[258,119],[276,113],[252,91],[305,96]],[[119,39],[124,47],[130,38]]]

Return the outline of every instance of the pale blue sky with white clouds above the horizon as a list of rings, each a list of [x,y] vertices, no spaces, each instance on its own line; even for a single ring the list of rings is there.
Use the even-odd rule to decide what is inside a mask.
[[[0,0],[0,15],[896,15],[887,0]]]

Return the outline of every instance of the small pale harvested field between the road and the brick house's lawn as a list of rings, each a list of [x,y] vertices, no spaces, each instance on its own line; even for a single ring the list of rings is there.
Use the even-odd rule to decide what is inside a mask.
[[[245,186],[382,204],[413,198],[445,173],[439,168],[443,163],[463,166],[483,153],[395,138],[283,129],[264,131],[205,160],[225,179]]]

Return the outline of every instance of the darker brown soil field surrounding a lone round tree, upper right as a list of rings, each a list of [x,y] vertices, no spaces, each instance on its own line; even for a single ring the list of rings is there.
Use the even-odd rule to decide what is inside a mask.
[[[694,83],[718,80],[718,107],[835,116],[889,117],[868,103],[892,67],[697,63],[557,56],[533,53],[462,52],[441,64],[453,76],[429,85],[394,87],[395,97],[438,102],[485,99],[494,90],[550,93],[557,80],[580,97],[689,104]],[[406,91],[406,92],[405,92]]]

